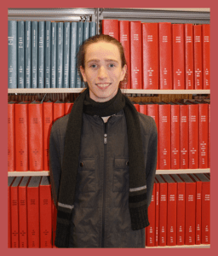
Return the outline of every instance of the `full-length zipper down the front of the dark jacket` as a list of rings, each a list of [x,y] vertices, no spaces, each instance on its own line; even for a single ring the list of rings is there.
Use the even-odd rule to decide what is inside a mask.
[[[112,116],[109,118],[111,119]],[[108,119],[108,120],[109,120]],[[108,122],[107,120],[107,122]],[[105,247],[105,212],[106,212],[106,144],[107,144],[107,134],[106,134],[106,125],[104,120],[104,172],[103,172],[103,206],[102,206],[102,236],[101,236],[101,247]]]

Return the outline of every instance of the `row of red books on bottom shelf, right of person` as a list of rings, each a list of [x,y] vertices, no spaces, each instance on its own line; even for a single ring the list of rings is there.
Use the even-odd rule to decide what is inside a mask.
[[[210,175],[157,175],[146,246],[210,244]]]

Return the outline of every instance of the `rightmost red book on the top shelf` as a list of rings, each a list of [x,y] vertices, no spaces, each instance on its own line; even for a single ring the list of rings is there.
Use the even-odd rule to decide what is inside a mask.
[[[210,90],[210,24],[202,24],[203,89]]]

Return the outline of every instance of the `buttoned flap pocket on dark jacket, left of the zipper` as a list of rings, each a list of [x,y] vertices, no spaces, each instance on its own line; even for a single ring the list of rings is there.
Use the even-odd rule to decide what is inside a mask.
[[[78,190],[81,193],[95,192],[95,159],[79,160]]]

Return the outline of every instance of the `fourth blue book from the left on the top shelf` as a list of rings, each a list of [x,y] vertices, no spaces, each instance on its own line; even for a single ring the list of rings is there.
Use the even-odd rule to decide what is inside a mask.
[[[37,21],[32,21],[32,88],[37,88]]]

